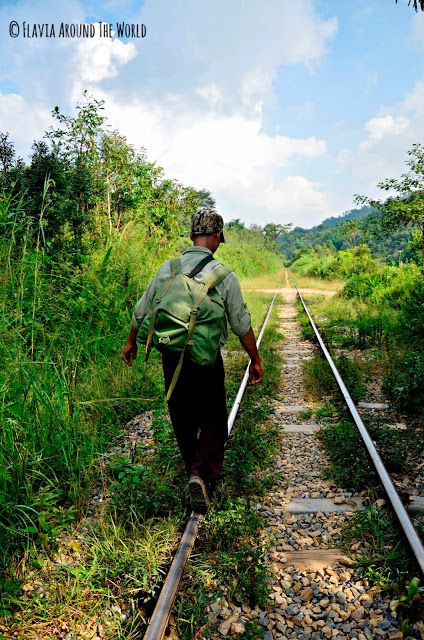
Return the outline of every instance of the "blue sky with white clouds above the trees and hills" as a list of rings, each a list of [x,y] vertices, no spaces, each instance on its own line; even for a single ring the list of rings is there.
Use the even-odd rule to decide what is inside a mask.
[[[143,40],[9,23],[144,23]],[[0,131],[20,155],[82,91],[224,218],[310,227],[404,170],[424,136],[424,15],[406,0],[0,0]]]

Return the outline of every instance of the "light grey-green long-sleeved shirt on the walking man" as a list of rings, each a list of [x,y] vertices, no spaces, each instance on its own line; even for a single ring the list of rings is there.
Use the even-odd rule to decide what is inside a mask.
[[[212,251],[206,247],[190,247],[181,256],[181,266],[183,273],[190,273],[194,267],[199,264],[203,258],[208,254],[212,255]],[[195,279],[199,282],[203,282],[206,275],[211,269],[216,266],[216,262],[209,262],[203,269],[195,276]],[[167,260],[160,267],[153,280],[150,282],[143,296],[137,302],[135,310],[132,316],[131,326],[138,329],[141,325],[144,316],[150,310],[152,300],[157,287],[171,277],[170,261]],[[246,304],[243,300],[243,296],[240,289],[240,283],[237,276],[231,271],[230,274],[222,282],[216,286],[216,290],[221,296],[225,305],[224,321],[221,331],[221,346],[225,343],[228,337],[227,319],[230,323],[231,329],[237,336],[244,336],[251,327],[250,313],[247,310]]]

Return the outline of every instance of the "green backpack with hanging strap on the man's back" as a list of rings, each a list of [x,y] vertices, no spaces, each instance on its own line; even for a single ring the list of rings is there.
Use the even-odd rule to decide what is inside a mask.
[[[140,326],[138,335],[140,342],[146,344],[146,362],[152,347],[180,356],[167,400],[177,384],[186,355],[195,364],[212,365],[218,354],[225,307],[215,287],[231,270],[218,263],[204,282],[194,280],[212,260],[208,255],[188,275],[181,270],[181,258],[171,260],[171,277],[156,289],[151,310]]]

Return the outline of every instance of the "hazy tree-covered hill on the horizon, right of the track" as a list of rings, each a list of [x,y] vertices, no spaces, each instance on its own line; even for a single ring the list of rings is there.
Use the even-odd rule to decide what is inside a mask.
[[[346,237],[342,230],[342,226],[346,222],[358,221],[360,229],[366,229],[367,223],[376,215],[378,213],[371,207],[361,207],[347,211],[337,217],[326,218],[319,225],[312,227],[312,229],[295,227],[287,235],[279,239],[280,249],[286,261],[291,263],[300,253],[311,247],[328,246],[340,251],[348,249],[352,244],[366,242],[374,255],[380,255],[388,262],[398,262],[399,259],[413,260],[414,253],[408,246],[411,239],[410,229],[379,237],[369,235],[365,237],[363,231],[360,231],[356,238]]]

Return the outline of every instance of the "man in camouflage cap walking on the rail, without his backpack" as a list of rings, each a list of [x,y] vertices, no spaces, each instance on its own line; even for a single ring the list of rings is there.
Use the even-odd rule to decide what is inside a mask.
[[[213,259],[213,254],[221,242],[225,242],[223,227],[223,219],[215,211],[201,209],[193,214],[190,234],[193,246],[181,256],[180,264],[184,274],[195,277],[198,282],[204,282],[213,274],[213,269],[220,267],[220,263]],[[199,267],[201,270],[198,272]],[[170,279],[171,270],[171,261],[164,262],[137,302],[122,356],[129,366],[137,355],[136,338],[140,325],[151,311],[158,286]],[[229,272],[215,288],[225,308],[220,346],[224,345],[228,335],[228,320],[250,356],[250,382],[261,382],[261,361],[239,281],[233,272]],[[216,360],[211,365],[195,364],[189,357],[185,357],[175,383],[173,378],[178,362],[178,356],[162,354],[165,389],[172,390],[168,399],[169,413],[189,476],[191,507],[196,513],[205,513],[209,495],[222,471],[228,437],[224,366],[219,349]]]

